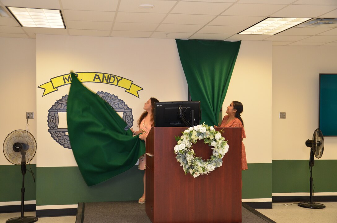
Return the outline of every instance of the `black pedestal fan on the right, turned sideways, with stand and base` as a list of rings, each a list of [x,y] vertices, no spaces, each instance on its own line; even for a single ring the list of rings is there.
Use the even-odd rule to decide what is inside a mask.
[[[312,140],[305,141],[305,145],[311,147],[310,150],[310,202],[300,202],[298,206],[302,208],[312,208],[312,209],[322,209],[325,208],[325,205],[321,203],[312,202],[312,185],[313,185],[313,178],[312,178],[312,167],[315,164],[314,155],[317,159],[322,157],[324,151],[324,138],[322,132],[317,128],[312,136]]]

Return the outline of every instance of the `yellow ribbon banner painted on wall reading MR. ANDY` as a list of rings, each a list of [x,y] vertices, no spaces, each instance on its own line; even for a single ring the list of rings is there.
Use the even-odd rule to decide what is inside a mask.
[[[96,82],[96,83],[105,83],[111,84],[125,89],[125,92],[128,92],[131,95],[139,98],[138,91],[143,90],[142,87],[135,85],[131,80],[128,80],[124,77],[119,77],[112,74],[106,73],[97,73],[97,72],[79,72],[75,73],[81,82]],[[51,78],[49,82],[41,84],[38,88],[42,88],[43,96],[50,94],[51,92],[57,91],[58,87],[71,83],[71,77],[69,74],[64,74],[58,77]]]

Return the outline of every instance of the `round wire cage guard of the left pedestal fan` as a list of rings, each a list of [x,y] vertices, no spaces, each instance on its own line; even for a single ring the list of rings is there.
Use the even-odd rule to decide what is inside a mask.
[[[27,152],[25,152],[25,157],[23,159],[22,152],[15,152],[13,150],[14,143],[23,143],[29,146]],[[18,129],[9,133],[3,143],[3,153],[6,159],[15,164],[21,165],[23,164],[22,160],[25,160],[25,163],[31,161],[36,152],[36,141],[31,133],[26,130]]]

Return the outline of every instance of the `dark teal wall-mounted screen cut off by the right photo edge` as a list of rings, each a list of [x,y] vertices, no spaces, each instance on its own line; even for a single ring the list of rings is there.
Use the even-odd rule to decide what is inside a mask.
[[[337,74],[319,74],[318,125],[324,136],[337,136]]]

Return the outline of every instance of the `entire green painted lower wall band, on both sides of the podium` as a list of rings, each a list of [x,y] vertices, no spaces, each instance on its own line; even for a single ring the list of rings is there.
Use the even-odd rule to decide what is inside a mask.
[[[242,198],[271,198],[272,193],[309,192],[308,160],[273,160],[248,163],[242,171]],[[73,205],[78,202],[137,200],[143,194],[144,171],[130,170],[98,185],[88,187],[78,167],[38,167],[30,165],[35,180],[25,175],[25,200],[38,206]],[[314,192],[337,192],[337,160],[315,160]],[[29,165],[27,165],[29,170]],[[206,176],[207,177],[207,176]],[[0,202],[20,201],[20,165],[0,165]]]

